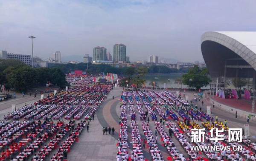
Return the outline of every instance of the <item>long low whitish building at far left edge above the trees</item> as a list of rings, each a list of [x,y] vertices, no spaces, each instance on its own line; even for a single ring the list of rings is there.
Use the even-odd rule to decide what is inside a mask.
[[[32,63],[30,55],[7,53],[7,51],[0,51],[0,59],[17,59],[26,65],[31,65]]]

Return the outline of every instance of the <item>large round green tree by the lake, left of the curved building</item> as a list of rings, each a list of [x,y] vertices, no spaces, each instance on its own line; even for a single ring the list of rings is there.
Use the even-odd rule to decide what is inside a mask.
[[[206,68],[201,70],[198,65],[189,69],[189,73],[183,74],[182,77],[183,85],[196,88],[196,90],[209,85],[209,82],[211,82],[211,79],[208,77],[208,70]]]

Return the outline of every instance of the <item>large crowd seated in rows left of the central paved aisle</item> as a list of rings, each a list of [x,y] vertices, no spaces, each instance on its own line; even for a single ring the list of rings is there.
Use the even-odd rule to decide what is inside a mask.
[[[8,113],[4,117],[5,121],[0,122],[0,161],[21,161],[28,158],[42,161],[58,146],[60,148],[50,160],[61,161],[89,123],[82,120],[76,124],[72,119],[93,117],[112,88],[112,85],[74,87],[41,99],[34,105],[25,103],[25,106]],[[63,117],[70,120],[68,124],[60,121]],[[7,121],[9,119],[14,121]],[[54,123],[54,120],[59,121]],[[66,136],[66,141],[62,142]]]

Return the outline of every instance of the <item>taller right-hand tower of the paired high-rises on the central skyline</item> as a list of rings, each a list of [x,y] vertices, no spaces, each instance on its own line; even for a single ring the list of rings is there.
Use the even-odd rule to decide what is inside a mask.
[[[126,62],[126,46],[123,44],[113,45],[113,61]]]

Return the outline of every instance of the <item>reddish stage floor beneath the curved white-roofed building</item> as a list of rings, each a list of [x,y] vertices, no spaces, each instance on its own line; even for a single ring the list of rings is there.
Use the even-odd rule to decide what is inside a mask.
[[[247,100],[247,99],[244,99],[244,98],[241,98],[241,99],[222,99],[222,98],[219,98],[217,96],[212,96],[211,99],[213,101],[215,101],[215,106],[216,106],[216,103],[218,102],[218,104],[220,104],[220,105],[226,105],[228,107],[232,107],[232,108],[235,108],[237,110],[243,110],[243,111],[252,113],[252,101],[251,100]],[[233,110],[235,110],[235,109],[233,109]],[[256,109],[254,110],[253,113],[256,113]]]

